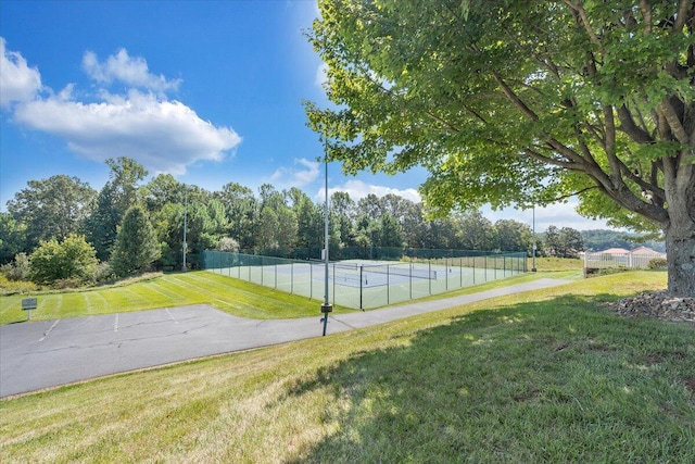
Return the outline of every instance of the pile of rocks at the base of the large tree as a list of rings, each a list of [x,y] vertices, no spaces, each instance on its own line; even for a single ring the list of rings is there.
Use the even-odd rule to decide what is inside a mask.
[[[679,298],[666,291],[648,291],[607,303],[610,311],[626,317],[654,317],[684,323],[695,328],[695,298]]]

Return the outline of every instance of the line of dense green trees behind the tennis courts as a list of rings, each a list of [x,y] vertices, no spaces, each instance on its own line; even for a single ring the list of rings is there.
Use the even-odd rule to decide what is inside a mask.
[[[0,264],[4,274],[39,284],[75,284],[150,268],[197,267],[203,250],[275,256],[320,258],[324,204],[298,188],[262,185],[257,195],[237,183],[219,191],[148,172],[128,158],[108,160],[99,191],[77,177],[28,181],[0,213]],[[523,223],[492,223],[476,212],[428,220],[422,203],[395,195],[354,201],[333,192],[329,209],[331,255],[350,248],[413,248],[531,253],[533,234]],[[576,255],[581,235],[548,228],[540,254]],[[338,254],[337,254],[338,253]]]

